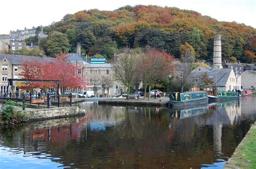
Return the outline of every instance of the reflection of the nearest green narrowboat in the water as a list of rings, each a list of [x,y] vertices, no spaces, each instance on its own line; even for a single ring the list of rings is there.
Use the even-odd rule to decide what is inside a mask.
[[[204,114],[207,112],[208,106],[193,106],[189,109],[179,108],[179,109],[171,109],[171,117],[175,116],[177,118],[183,119],[186,117],[198,116],[199,114]]]

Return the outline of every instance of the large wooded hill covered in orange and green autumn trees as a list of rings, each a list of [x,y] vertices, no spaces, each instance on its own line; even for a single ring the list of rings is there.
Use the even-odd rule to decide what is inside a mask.
[[[217,33],[222,35],[223,58],[233,56],[241,62],[253,62],[256,52],[256,29],[251,26],[218,22],[196,11],[152,5],[67,14],[62,21],[46,27],[44,33],[49,36],[41,39],[40,46],[49,56],[60,51],[75,52],[80,42],[82,53],[107,59],[127,45],[138,49],[150,45],[179,57],[180,45],[187,42],[197,59],[211,61],[213,35]]]

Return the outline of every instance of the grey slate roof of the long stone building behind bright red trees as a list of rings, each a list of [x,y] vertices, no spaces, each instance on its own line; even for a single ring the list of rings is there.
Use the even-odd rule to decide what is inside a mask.
[[[55,58],[51,57],[39,57],[39,56],[23,56],[23,55],[3,55],[0,54],[0,59],[6,58],[8,59],[12,65],[23,65],[23,60],[32,62],[35,59],[38,59],[40,61],[46,62],[46,61],[51,61]]]

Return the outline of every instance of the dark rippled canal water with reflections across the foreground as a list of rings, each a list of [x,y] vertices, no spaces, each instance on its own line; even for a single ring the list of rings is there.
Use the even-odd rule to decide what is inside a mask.
[[[85,117],[0,129],[0,168],[223,168],[256,98],[199,107],[79,104]]]

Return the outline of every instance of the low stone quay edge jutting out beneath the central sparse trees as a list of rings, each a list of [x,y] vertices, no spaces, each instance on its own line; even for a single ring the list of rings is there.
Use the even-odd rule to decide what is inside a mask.
[[[134,105],[134,106],[157,106],[157,107],[163,107],[168,106],[169,98],[163,97],[163,98],[156,98],[156,99],[150,99],[150,100],[144,100],[143,98],[140,99],[130,99],[126,100],[126,98],[113,98],[113,99],[107,99],[107,100],[99,100],[99,104],[107,104],[107,105]]]

